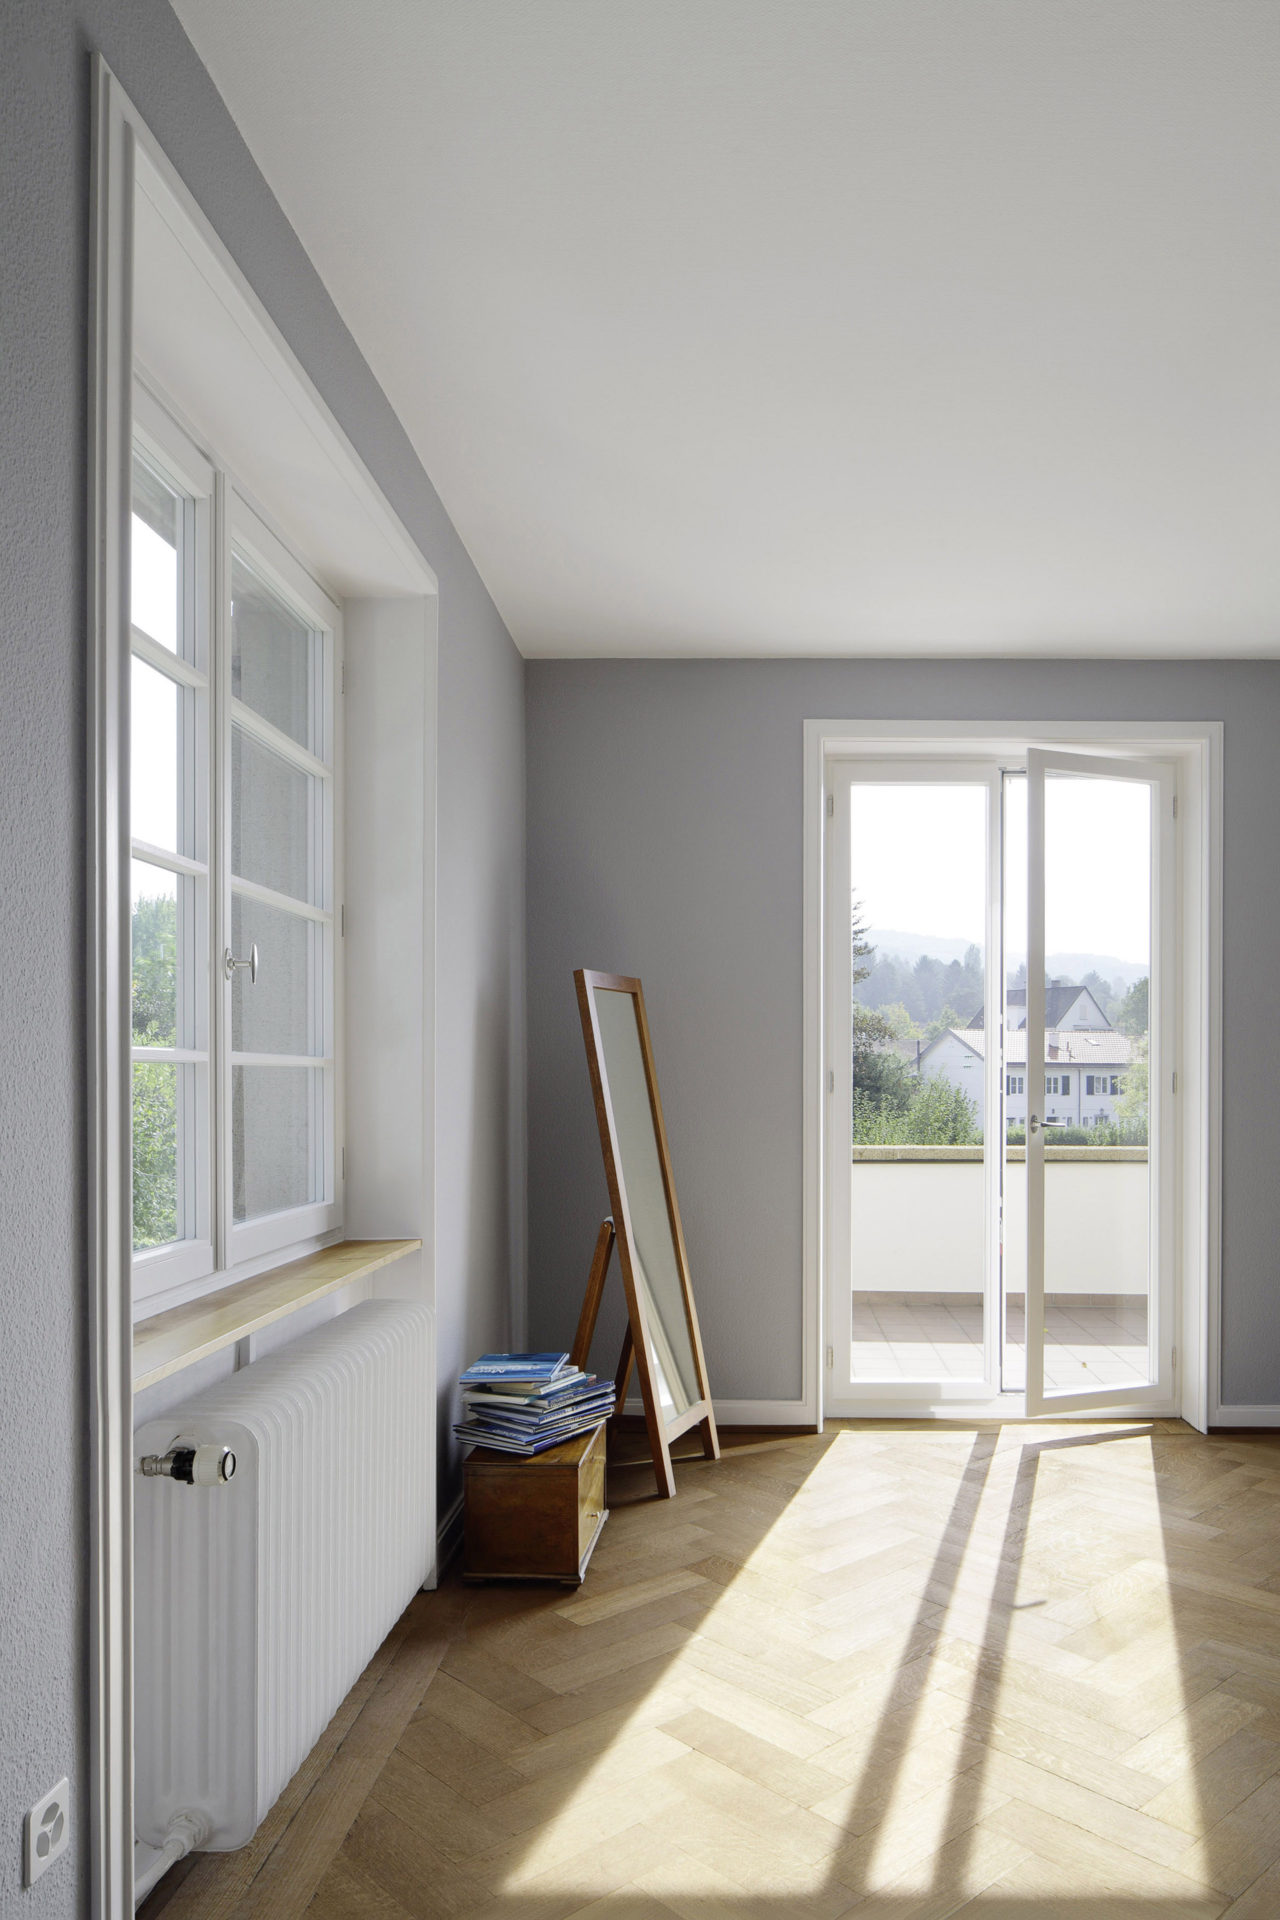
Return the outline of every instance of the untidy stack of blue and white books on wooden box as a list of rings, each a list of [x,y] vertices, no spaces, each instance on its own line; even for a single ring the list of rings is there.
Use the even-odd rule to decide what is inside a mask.
[[[462,1375],[466,1419],[455,1434],[503,1453],[545,1453],[614,1411],[614,1382],[570,1367],[568,1354],[482,1354]]]

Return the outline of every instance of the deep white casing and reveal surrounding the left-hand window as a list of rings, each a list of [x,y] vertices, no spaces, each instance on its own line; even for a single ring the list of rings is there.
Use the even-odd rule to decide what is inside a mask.
[[[207,424],[278,532],[332,570],[378,672],[347,682],[376,766],[347,810],[347,1104],[365,1152],[347,1225],[418,1235],[401,1286],[434,1306],[436,685],[439,584],[100,54],[90,56],[86,449],[88,1789],[100,1920],[132,1920],[132,1183],[129,530],[134,357]],[[188,321],[198,324],[186,324]],[[182,332],[175,332],[182,324]],[[150,328],[150,332],[148,332]],[[150,355],[148,342],[159,359]],[[213,378],[217,371],[217,378]],[[203,436],[201,436],[203,438]],[[395,966],[384,964],[395,950]],[[376,1008],[376,1014],[372,1012]],[[370,1010],[367,1014],[367,1010]],[[265,1256],[273,1267],[280,1256]],[[407,1269],[413,1267],[413,1273]],[[217,1281],[213,1284],[219,1284]]]

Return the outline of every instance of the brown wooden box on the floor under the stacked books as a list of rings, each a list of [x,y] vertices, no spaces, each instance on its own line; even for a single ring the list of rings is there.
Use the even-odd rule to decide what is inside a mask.
[[[464,1467],[462,1576],[581,1586],[604,1507],[604,1423],[522,1459],[478,1446]]]

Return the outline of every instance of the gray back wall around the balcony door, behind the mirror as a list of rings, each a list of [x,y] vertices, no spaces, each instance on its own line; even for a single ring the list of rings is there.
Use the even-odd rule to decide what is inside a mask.
[[[1222,720],[1224,1400],[1280,1402],[1280,664],[532,660],[530,1334],[608,1212],[572,970],[639,973],[716,1396],[800,1392],[802,722]],[[1105,858],[1105,849],[1100,849]],[[616,1356],[618,1288],[597,1363]]]

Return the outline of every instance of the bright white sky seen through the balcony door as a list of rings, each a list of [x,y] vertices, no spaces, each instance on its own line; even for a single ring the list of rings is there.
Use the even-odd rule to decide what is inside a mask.
[[[1027,781],[1009,778],[1006,956],[1027,952]],[[1046,780],[1046,952],[1150,964],[1150,787]],[[852,895],[867,927],[984,945],[986,787],[852,787]]]

